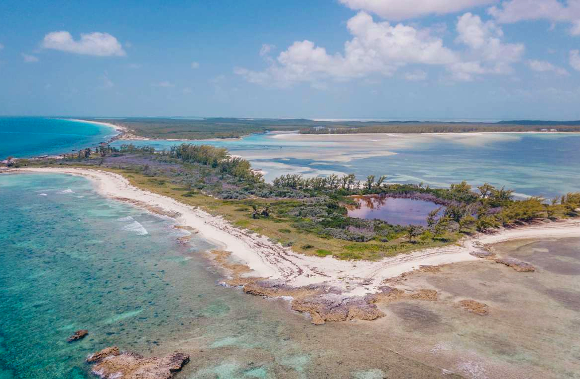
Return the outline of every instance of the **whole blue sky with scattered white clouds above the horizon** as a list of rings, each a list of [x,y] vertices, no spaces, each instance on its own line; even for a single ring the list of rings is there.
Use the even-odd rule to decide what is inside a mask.
[[[0,115],[580,120],[579,50],[580,0],[3,0]]]

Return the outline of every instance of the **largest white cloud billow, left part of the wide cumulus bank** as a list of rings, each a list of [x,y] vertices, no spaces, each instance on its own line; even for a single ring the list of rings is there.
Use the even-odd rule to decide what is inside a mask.
[[[449,64],[458,60],[443,46],[441,38],[403,24],[375,23],[368,13],[359,12],[347,22],[353,35],[343,53],[329,54],[314,42],[296,41],[272,60],[266,71],[236,67],[234,73],[258,84],[288,86],[296,82],[317,82],[326,78],[349,80],[371,73],[392,75],[409,63]]]

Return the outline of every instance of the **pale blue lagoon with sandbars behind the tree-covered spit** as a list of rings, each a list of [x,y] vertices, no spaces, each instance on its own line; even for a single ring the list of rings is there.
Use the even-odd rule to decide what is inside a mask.
[[[295,172],[387,175],[389,182],[448,186],[466,180],[506,186],[516,193],[553,197],[580,190],[580,135],[485,133],[463,135],[342,135],[276,138],[274,133],[241,140],[192,141],[223,146],[247,157],[271,181]],[[117,145],[127,143],[117,141]],[[132,141],[168,149],[176,141]],[[386,155],[392,153],[390,155]]]

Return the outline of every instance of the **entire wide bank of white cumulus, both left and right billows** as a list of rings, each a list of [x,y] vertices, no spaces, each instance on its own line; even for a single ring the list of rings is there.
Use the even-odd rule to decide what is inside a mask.
[[[408,64],[423,64],[445,67],[452,78],[465,81],[476,75],[512,73],[512,64],[521,60],[525,49],[503,41],[503,32],[494,21],[484,22],[472,13],[458,17],[456,42],[465,46],[461,52],[444,46],[443,39],[433,35],[437,28],[375,22],[366,12],[351,17],[347,28],[353,38],[345,42],[343,52],[329,53],[305,39],[294,42],[276,59],[266,60],[266,70],[236,67],[234,73],[255,84],[284,87],[310,82],[321,88],[325,80],[391,76]],[[407,73],[403,78],[424,80],[426,74]]]

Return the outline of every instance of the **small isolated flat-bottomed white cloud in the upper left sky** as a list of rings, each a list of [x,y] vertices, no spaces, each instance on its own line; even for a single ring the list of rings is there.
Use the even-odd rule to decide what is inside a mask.
[[[108,33],[81,34],[75,41],[68,31],[53,31],[44,36],[42,47],[75,54],[95,56],[125,56],[117,38]]]

